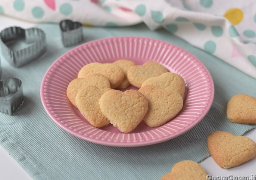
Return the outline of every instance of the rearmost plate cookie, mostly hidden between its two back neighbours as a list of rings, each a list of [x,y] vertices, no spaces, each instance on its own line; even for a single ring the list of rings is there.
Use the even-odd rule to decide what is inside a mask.
[[[127,79],[127,71],[131,66],[135,66],[136,63],[133,61],[130,61],[130,60],[120,59],[120,60],[115,61],[114,64],[119,66],[123,70],[123,73],[124,73],[123,81],[117,88],[125,89],[125,88],[129,87],[131,84]]]

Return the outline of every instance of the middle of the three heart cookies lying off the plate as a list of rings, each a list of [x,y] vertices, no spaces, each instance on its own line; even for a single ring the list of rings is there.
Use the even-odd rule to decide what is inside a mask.
[[[222,168],[239,166],[256,156],[256,144],[245,136],[230,132],[212,132],[207,138],[209,152]]]

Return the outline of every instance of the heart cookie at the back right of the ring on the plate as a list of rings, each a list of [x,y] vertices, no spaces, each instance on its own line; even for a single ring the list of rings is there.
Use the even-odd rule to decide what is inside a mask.
[[[168,70],[158,64],[157,62],[149,61],[144,63],[142,66],[136,65],[129,68],[127,71],[127,79],[137,88],[141,88],[142,83],[151,77],[160,76]]]

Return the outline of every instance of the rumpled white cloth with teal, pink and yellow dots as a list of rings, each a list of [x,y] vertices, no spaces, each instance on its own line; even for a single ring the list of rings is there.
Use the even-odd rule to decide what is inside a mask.
[[[71,19],[91,26],[144,22],[256,78],[254,0],[1,0],[0,13],[32,22]]]

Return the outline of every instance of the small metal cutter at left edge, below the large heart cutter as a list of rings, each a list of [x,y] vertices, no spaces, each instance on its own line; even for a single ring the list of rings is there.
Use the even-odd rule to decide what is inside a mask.
[[[23,104],[22,83],[17,78],[0,81],[0,111],[12,115]]]

